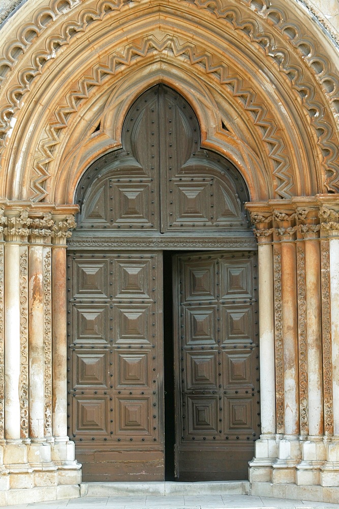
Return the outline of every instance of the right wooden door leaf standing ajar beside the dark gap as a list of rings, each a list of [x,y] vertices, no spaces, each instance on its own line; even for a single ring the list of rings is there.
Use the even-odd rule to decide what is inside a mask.
[[[179,480],[247,477],[260,436],[256,268],[248,252],[176,256]]]

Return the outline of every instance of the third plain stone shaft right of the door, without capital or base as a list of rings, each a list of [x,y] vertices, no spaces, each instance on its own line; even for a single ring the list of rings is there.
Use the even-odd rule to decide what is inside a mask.
[[[307,372],[309,380],[309,434],[324,432],[322,394],[321,273],[318,240],[305,241]]]

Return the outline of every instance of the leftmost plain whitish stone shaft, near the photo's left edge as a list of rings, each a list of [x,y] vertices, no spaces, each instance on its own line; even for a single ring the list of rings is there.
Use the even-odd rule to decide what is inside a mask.
[[[4,247],[5,438],[20,438],[20,246]]]

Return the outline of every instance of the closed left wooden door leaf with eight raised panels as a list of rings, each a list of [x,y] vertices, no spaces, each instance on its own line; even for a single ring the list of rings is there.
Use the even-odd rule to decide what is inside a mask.
[[[84,480],[164,478],[161,276],[157,252],[68,255],[68,426]]]

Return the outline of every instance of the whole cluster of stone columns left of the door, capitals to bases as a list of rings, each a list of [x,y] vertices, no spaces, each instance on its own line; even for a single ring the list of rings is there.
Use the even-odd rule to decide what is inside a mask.
[[[22,488],[56,498],[81,482],[66,387],[66,240],[76,211],[0,201],[0,503]]]

